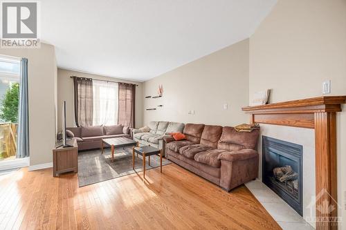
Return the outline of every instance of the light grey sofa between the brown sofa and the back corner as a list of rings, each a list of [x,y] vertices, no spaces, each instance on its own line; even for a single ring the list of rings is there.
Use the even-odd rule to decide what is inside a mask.
[[[147,131],[143,129],[132,130],[133,138],[141,145],[150,145],[163,149],[163,137],[168,133],[183,132],[184,124],[178,122],[149,122]]]

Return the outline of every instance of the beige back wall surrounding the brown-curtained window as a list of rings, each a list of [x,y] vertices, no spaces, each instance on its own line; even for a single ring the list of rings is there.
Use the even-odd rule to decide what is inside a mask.
[[[73,79],[71,76],[89,77],[93,79],[109,80],[114,82],[127,82],[138,84],[136,87],[136,127],[142,126],[143,118],[143,84],[141,82],[131,82],[113,77],[104,77],[100,75],[92,75],[89,73],[81,73],[72,70],[57,69],[57,127],[62,128],[62,103],[66,101],[66,126],[75,126],[75,113],[73,106]]]

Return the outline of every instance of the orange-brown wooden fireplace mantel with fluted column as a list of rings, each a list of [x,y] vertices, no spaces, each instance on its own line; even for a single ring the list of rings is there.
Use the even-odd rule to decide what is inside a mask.
[[[331,221],[338,215],[337,208],[331,213],[325,213],[318,207],[322,207],[325,200],[328,204],[338,207],[336,113],[341,111],[341,104],[345,103],[346,96],[324,96],[242,108],[242,111],[251,114],[251,123],[315,130],[316,229],[337,229],[337,223]]]

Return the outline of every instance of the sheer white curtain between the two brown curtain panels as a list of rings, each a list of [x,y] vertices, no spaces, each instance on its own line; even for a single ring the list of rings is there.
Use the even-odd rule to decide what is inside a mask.
[[[118,123],[118,83],[93,80],[93,125]]]

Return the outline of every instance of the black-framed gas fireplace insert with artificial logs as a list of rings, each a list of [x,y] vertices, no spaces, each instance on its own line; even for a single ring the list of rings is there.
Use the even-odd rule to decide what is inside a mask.
[[[302,215],[302,146],[262,136],[262,181]]]

